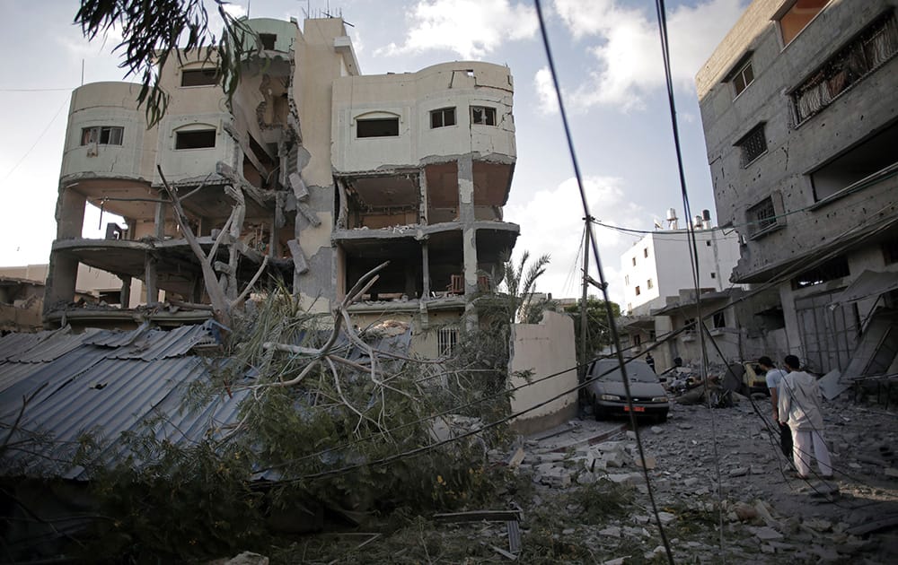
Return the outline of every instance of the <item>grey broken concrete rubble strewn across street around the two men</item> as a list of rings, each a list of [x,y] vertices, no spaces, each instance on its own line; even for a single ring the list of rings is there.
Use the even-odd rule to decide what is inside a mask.
[[[755,412],[766,414],[768,406],[760,401],[753,406],[750,399],[725,411],[674,405],[671,422],[640,428],[645,466],[675,559],[718,561],[722,521],[726,558],[739,562],[890,561],[881,560],[898,554],[894,414],[844,400],[829,403],[826,437],[837,479],[801,482],[788,474],[779,445]],[[664,559],[636,436],[621,430],[622,424],[569,422],[551,440],[524,442],[506,463],[532,477],[533,508],[591,483],[635,489],[629,517],[566,524],[565,508],[559,508],[561,537],[568,532],[603,559],[622,560],[609,563]],[[525,547],[526,519],[522,529]],[[628,548],[627,554],[611,554],[621,548]]]

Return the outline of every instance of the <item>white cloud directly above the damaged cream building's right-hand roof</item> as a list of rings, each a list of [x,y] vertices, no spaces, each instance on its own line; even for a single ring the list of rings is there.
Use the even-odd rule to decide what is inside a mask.
[[[421,0],[408,19],[404,43],[391,43],[374,55],[446,49],[465,59],[478,59],[504,41],[533,37],[537,28],[533,8],[509,0]]]

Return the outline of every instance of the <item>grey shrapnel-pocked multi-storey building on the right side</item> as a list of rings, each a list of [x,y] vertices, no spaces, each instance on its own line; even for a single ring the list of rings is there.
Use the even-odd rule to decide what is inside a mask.
[[[731,281],[779,290],[814,371],[894,374],[896,0],[754,0],[696,77]]]

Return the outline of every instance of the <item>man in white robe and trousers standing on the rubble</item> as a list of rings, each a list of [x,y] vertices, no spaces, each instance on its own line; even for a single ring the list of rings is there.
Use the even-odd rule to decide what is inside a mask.
[[[792,429],[792,457],[799,478],[806,479],[811,471],[811,447],[823,479],[832,479],[830,451],[823,441],[823,412],[820,407],[820,387],[817,378],[798,370],[798,358],[787,355],[788,374],[779,385],[779,422]]]

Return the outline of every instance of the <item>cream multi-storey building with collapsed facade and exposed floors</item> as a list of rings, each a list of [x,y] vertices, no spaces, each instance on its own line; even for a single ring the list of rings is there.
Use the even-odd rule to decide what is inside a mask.
[[[502,216],[515,168],[509,69],[456,62],[361,75],[341,18],[308,19],[303,30],[295,20],[245,23],[259,49],[242,61],[231,100],[214,62],[197,54],[159,69],[170,101],[152,127],[135,101],[140,85],[74,91],[45,326],[208,316],[164,178],[204,253],[215,248],[232,296],[264,263],[260,280],[282,280],[309,309],[327,311],[388,260],[351,307],[358,326],[398,320],[421,352],[452,347],[519,231]],[[235,199],[242,213],[229,222]],[[89,204],[124,222],[109,222],[105,239],[82,238]],[[216,246],[222,231],[232,235]],[[79,265],[118,276],[118,304],[73,304]],[[137,292],[140,306],[128,308]]]

